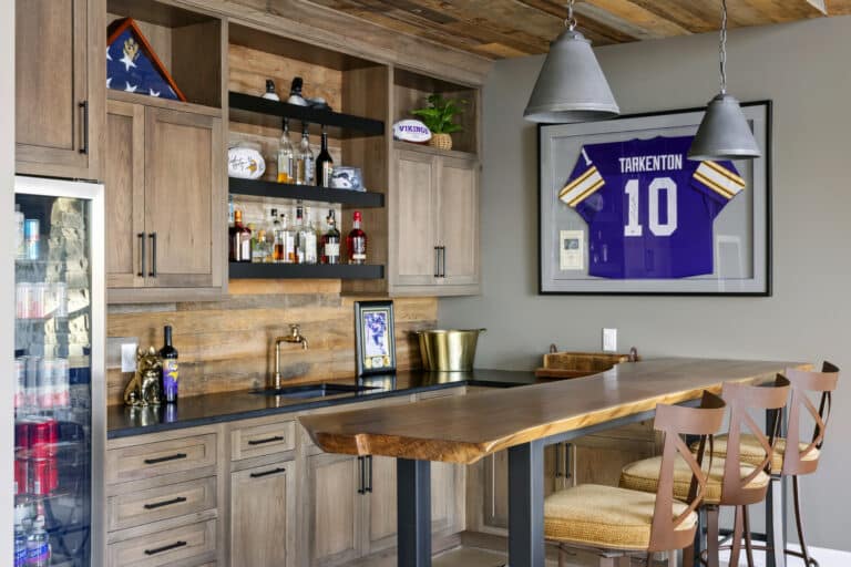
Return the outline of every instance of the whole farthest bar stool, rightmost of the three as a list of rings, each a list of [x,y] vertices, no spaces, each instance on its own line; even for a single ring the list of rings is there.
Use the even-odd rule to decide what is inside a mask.
[[[783,514],[779,506],[775,506],[775,514],[771,518],[772,540],[779,543],[775,548],[755,547],[756,549],[767,549],[775,556],[775,565],[782,567],[786,565],[785,555],[800,557],[807,565],[818,567],[818,561],[810,557],[809,549],[803,536],[803,519],[801,517],[800,486],[798,477],[804,474],[814,473],[819,466],[821,457],[821,447],[824,442],[824,433],[830,417],[831,398],[833,390],[839,382],[839,368],[830,362],[824,362],[821,372],[807,372],[796,369],[787,369],[786,377],[791,382],[792,399],[789,402],[789,425],[786,437],[779,437],[775,444],[775,451],[771,454],[771,491],[778,496],[782,493],[782,480],[786,476],[792,477],[792,497],[794,511],[794,525],[798,530],[798,542],[801,550],[782,549],[783,538]],[[810,396],[819,400],[819,408],[816,409]],[[814,421],[812,437],[809,441],[802,441],[801,434],[801,409],[806,409],[810,417]],[[734,442],[735,444],[735,442]],[[788,451],[788,447],[798,447],[798,451]],[[762,462],[766,457],[765,447],[755,440],[752,435],[742,435],[739,440],[740,457],[749,464]],[[715,454],[724,457],[728,453],[728,440],[719,435],[715,444]],[[781,502],[778,497],[776,502]]]

